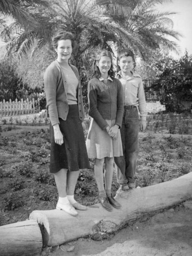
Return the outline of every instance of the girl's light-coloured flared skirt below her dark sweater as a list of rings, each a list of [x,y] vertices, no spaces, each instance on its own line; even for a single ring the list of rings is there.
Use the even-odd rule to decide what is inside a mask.
[[[111,127],[115,120],[106,120]],[[86,147],[89,158],[102,159],[105,157],[123,156],[122,139],[120,129],[118,130],[117,139],[112,139],[107,131],[91,119],[89,131],[86,139]]]

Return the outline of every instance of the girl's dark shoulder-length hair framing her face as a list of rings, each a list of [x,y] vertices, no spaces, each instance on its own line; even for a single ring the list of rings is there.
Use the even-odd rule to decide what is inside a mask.
[[[112,58],[111,53],[110,53],[109,51],[107,51],[107,50],[99,50],[99,51],[97,52],[96,57],[95,57],[95,60],[94,60],[94,62],[93,62],[93,72],[94,72],[93,76],[94,76],[94,77],[97,77],[97,78],[100,78],[101,73],[100,73],[100,70],[99,70],[99,68],[98,68],[98,66],[97,66],[97,61],[100,61],[101,57],[103,57],[103,56],[106,56],[106,57],[109,57],[109,58],[110,58],[110,60],[111,60],[111,68],[110,68],[110,70],[108,71],[108,75],[109,75],[111,78],[114,78],[115,73],[114,73],[114,71],[113,71],[113,58]]]

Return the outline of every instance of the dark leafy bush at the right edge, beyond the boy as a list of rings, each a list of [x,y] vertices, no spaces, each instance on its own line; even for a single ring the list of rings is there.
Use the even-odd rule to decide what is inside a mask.
[[[163,67],[162,74],[152,84],[161,104],[166,111],[182,112],[183,101],[192,101],[192,55],[182,56],[179,60],[171,60]]]

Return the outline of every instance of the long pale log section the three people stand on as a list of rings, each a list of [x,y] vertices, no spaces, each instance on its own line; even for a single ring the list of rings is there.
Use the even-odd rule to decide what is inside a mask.
[[[30,219],[40,224],[44,246],[56,246],[88,235],[103,239],[129,222],[190,198],[192,172],[172,181],[122,191],[116,198],[122,208],[114,208],[112,212],[98,204],[87,211],[79,211],[78,217],[55,209],[35,210]]]

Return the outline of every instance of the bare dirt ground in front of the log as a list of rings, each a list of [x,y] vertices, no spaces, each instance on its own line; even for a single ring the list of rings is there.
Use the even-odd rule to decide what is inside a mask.
[[[191,256],[192,201],[137,221],[117,232],[110,240],[77,241],[46,248],[50,256]]]

